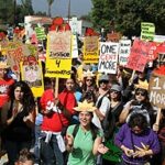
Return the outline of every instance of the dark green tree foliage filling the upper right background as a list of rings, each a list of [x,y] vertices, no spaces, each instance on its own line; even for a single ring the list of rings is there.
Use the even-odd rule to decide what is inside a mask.
[[[124,35],[140,35],[141,22],[153,22],[156,33],[165,29],[165,1],[162,0],[91,0],[95,28],[113,29]]]

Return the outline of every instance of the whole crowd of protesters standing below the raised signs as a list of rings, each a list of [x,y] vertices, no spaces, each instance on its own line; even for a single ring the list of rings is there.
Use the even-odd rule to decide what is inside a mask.
[[[56,79],[44,77],[35,99],[9,70],[0,65],[0,155],[8,165],[165,165],[165,113],[155,124],[150,68],[130,81],[128,68],[100,75],[79,59],[70,78],[59,79],[58,96]]]

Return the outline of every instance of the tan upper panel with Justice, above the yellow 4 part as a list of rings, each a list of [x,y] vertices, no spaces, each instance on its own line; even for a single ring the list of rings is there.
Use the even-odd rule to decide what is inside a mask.
[[[48,32],[48,54],[50,59],[70,58],[72,32]]]

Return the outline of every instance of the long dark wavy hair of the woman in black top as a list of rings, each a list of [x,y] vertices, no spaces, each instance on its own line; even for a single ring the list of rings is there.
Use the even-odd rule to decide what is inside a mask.
[[[23,109],[25,109],[28,112],[32,111],[35,108],[35,101],[34,101],[32,90],[25,81],[16,81],[10,87],[9,98],[11,102],[13,102],[15,99],[14,90],[18,87],[20,87],[21,91],[23,92],[23,98],[21,100],[23,105]]]

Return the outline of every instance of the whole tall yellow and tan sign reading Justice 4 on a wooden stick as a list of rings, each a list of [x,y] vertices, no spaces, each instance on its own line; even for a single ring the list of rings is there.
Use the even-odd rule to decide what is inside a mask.
[[[59,34],[58,34],[59,33]],[[69,78],[72,70],[72,33],[51,32],[47,36],[46,77]]]

